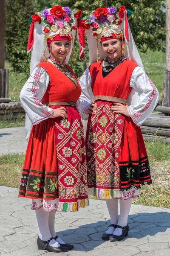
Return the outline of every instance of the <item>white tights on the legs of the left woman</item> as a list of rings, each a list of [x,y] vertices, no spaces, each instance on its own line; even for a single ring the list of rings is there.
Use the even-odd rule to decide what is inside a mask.
[[[45,212],[41,207],[38,210],[35,210],[38,229],[39,229],[39,237],[43,241],[48,241],[51,237],[55,237],[56,233],[54,230],[54,222],[55,222],[55,212]],[[65,244],[59,237],[54,240],[52,239],[49,242],[49,245],[53,247],[59,247],[60,244]]]

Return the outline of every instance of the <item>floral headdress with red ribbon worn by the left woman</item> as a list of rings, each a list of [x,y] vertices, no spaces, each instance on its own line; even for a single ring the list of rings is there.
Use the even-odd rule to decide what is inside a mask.
[[[37,12],[32,15],[28,22],[30,23],[30,33],[28,38],[28,48],[27,52],[31,51],[34,42],[34,23],[42,24],[42,34],[45,35],[44,42],[46,44],[46,39],[51,40],[56,36],[60,37],[70,36],[72,43],[74,43],[72,31],[77,29],[76,23],[78,19],[82,16],[81,11],[73,12],[68,6],[54,6],[51,9],[45,9],[42,12]],[[77,20],[76,20],[77,19]],[[45,60],[45,49],[44,47],[44,60]],[[74,48],[72,50],[73,58],[72,61],[76,61]]]

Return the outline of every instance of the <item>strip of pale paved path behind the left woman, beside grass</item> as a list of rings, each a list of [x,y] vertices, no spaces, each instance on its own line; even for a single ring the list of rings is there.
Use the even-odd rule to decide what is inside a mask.
[[[0,129],[0,155],[11,153],[26,153],[25,127]]]

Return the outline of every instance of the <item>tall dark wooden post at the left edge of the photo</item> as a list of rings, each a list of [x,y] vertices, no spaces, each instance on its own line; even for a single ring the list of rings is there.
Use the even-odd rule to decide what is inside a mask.
[[[0,0],[0,102],[10,102],[8,97],[9,70],[5,66],[5,0]]]

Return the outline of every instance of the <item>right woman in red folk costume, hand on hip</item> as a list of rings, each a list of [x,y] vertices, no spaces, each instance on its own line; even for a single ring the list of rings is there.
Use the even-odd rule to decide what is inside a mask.
[[[102,239],[110,241],[127,236],[132,199],[139,197],[141,184],[152,183],[139,126],[156,107],[159,93],[144,72],[127,21],[130,12],[117,3],[82,20],[91,64],[79,80],[82,119],[88,119],[88,188],[89,195],[106,201],[111,225]]]

